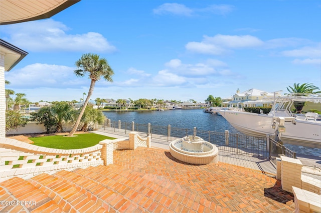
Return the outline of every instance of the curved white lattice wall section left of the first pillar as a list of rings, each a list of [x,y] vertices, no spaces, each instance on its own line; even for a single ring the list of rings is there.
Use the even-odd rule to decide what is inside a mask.
[[[36,146],[11,138],[0,138],[0,181],[14,176],[30,178],[39,173],[55,173],[103,164],[97,144],[82,149],[55,149]]]

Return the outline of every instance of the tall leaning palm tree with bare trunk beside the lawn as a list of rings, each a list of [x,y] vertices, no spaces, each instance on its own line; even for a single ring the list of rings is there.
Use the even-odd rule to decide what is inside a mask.
[[[84,102],[84,105],[80,111],[80,114],[76,120],[74,127],[69,132],[68,136],[72,136],[81,120],[81,117],[86,109],[87,103],[92,95],[92,92],[95,87],[95,83],[97,80],[100,80],[103,77],[105,80],[112,82],[111,76],[114,74],[114,71],[109,66],[107,60],[105,58],[99,58],[98,54],[86,53],[81,55],[80,59],[76,61],[76,66],[79,68],[75,70],[75,74],[77,76],[84,76],[85,73],[89,73],[89,78],[91,79],[89,91]]]

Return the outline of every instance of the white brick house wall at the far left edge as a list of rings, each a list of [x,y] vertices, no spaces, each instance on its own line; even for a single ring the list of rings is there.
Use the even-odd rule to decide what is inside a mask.
[[[0,53],[0,138],[6,137],[5,55]]]

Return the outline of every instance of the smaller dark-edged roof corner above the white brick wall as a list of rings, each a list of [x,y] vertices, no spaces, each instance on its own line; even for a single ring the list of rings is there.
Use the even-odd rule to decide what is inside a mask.
[[[0,38],[0,52],[5,55],[5,71],[12,69],[28,52]]]

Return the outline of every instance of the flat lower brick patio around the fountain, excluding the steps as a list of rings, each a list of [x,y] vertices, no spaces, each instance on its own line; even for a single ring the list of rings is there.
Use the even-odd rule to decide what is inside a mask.
[[[114,151],[114,164],[180,185],[199,203],[193,208],[196,211],[294,211],[293,194],[258,170],[222,162],[192,165],[177,160],[168,150],[142,147]],[[180,199],[179,194],[170,197],[167,202]]]

